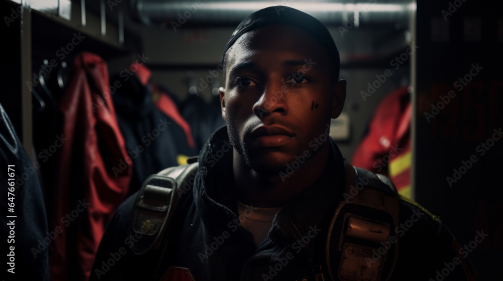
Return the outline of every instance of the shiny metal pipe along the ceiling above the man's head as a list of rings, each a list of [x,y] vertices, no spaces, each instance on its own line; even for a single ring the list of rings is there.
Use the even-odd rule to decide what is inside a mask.
[[[325,25],[355,24],[408,24],[414,3],[361,3],[306,2],[301,0],[271,1],[223,1],[191,0],[166,2],[165,0],[134,0],[133,15],[147,25],[169,25],[173,22],[189,25],[235,26],[249,14],[260,9],[284,5],[304,11]]]

